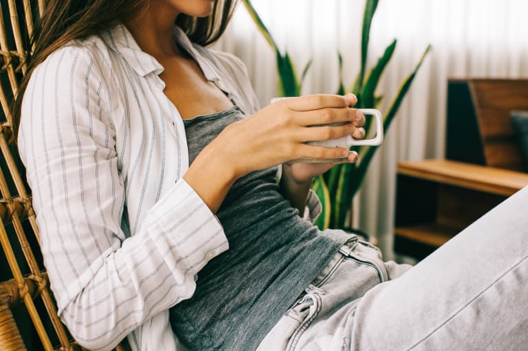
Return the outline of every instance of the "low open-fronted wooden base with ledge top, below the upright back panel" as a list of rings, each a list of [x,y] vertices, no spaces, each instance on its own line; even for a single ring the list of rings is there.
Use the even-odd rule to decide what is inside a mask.
[[[528,185],[526,173],[443,159],[397,171],[394,251],[419,260]]]

